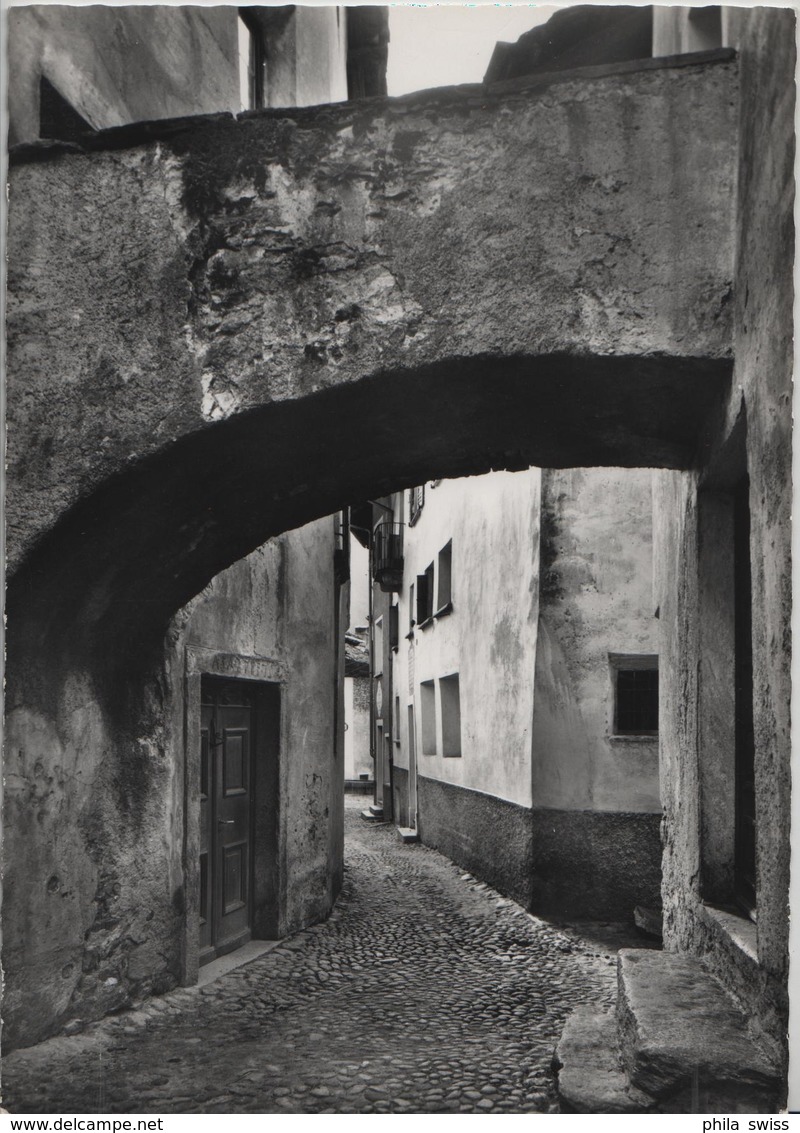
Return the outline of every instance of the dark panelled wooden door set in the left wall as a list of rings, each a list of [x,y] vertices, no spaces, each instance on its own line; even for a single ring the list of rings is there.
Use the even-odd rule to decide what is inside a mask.
[[[201,722],[201,963],[250,939],[254,693],[204,678]]]

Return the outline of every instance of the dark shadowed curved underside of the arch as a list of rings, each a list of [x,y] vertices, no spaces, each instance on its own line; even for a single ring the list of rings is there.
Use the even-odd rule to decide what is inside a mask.
[[[9,583],[15,656],[77,665],[111,691],[137,658],[146,667],[186,602],[267,538],[428,478],[690,468],[730,369],[724,359],[454,358],[210,424],[108,480],[39,544]]]

